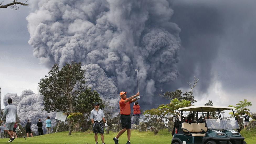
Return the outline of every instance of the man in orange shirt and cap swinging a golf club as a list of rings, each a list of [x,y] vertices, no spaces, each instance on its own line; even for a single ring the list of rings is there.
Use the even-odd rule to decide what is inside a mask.
[[[134,96],[130,98],[126,98],[126,92],[120,92],[120,101],[119,101],[119,107],[120,107],[120,120],[122,125],[122,130],[120,130],[116,137],[113,138],[115,144],[118,143],[118,138],[127,130],[127,138],[128,141],[126,144],[130,144],[130,137],[131,137],[131,108],[130,103],[135,102],[137,99],[140,98],[140,93],[137,92]],[[136,98],[135,98],[136,97]]]

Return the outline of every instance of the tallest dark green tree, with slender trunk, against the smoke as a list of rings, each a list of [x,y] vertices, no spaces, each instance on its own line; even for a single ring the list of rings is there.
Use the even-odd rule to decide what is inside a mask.
[[[59,70],[55,64],[49,72],[49,76],[41,78],[39,92],[44,95],[44,108],[42,110],[62,111],[68,116],[74,113],[75,98],[84,89],[84,70],[81,70],[81,62],[66,63]],[[72,132],[71,121],[69,121],[69,135]]]

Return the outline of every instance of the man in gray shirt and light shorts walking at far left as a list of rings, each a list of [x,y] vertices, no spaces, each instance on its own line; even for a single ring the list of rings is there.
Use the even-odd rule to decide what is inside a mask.
[[[18,121],[17,108],[12,104],[12,99],[9,98],[7,100],[8,105],[4,108],[3,117],[1,119],[1,123],[3,119],[6,118],[4,131],[10,136],[10,140],[8,142],[12,142],[15,137],[13,136],[13,127],[15,122]]]

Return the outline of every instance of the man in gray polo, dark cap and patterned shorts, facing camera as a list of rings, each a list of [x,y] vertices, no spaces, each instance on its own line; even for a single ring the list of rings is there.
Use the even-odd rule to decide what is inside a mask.
[[[105,118],[104,118],[104,113],[103,110],[99,109],[99,103],[96,102],[94,103],[94,109],[91,111],[90,119],[92,120],[92,129],[94,133],[94,139],[96,144],[98,144],[98,133],[100,133],[100,138],[102,141],[102,144],[104,143],[104,125],[103,122],[105,123]],[[106,125],[106,124],[105,124]]]

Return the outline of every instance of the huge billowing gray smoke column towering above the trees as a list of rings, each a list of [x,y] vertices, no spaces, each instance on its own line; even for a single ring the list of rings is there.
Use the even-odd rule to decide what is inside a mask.
[[[34,12],[26,19],[34,56],[49,67],[54,63],[62,66],[65,62],[81,61],[89,72],[100,70],[98,76],[102,74],[102,79],[94,81],[95,77],[87,77],[88,84],[99,93],[134,94],[135,69],[139,70],[143,94],[153,94],[178,77],[180,29],[170,20],[173,10],[169,1],[31,3]],[[110,86],[98,87],[109,83]],[[115,99],[116,96],[103,97]]]

